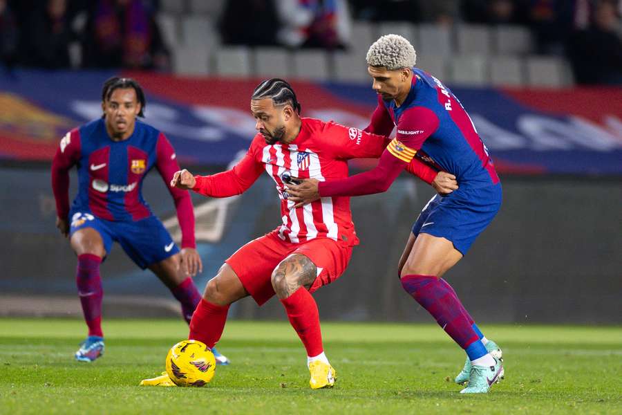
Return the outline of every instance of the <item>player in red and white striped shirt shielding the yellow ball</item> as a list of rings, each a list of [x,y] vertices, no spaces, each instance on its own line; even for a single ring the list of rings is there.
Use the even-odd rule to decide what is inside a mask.
[[[352,247],[359,243],[350,198],[326,197],[294,208],[285,185],[296,178],[346,178],[348,159],[378,158],[388,139],[334,122],[301,118],[292,87],[276,78],[257,86],[251,111],[258,133],[233,169],[212,176],[193,176],[182,170],[173,176],[171,186],[205,196],[234,196],[245,192],[265,171],[281,199],[283,224],[238,249],[207,283],[190,322],[189,339],[214,347],[230,304],[251,295],[261,306],[276,293],[307,350],[311,388],[331,387],[335,371],[323,351],[317,304],[311,293],[343,273]],[[416,159],[408,169],[426,178],[438,192],[457,188],[453,176],[437,173]],[[165,385],[169,383],[165,378],[143,384]]]

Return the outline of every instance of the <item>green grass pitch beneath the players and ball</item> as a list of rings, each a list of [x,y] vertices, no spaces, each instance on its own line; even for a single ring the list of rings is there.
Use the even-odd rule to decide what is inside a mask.
[[[232,359],[202,388],[139,387],[186,338],[178,320],[106,320],[106,351],[73,360],[79,320],[0,319],[0,412],[185,414],[622,414],[622,329],[483,325],[506,378],[460,395],[464,352],[435,325],[324,323],[334,389],[312,391],[305,353],[286,322],[227,323]]]

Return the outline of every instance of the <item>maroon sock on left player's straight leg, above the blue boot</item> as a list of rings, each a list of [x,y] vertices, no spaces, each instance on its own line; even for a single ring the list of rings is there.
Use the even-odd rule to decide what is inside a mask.
[[[93,254],[78,255],[75,273],[82,313],[88,326],[88,335],[104,337],[102,333],[102,278],[100,277],[102,259]]]

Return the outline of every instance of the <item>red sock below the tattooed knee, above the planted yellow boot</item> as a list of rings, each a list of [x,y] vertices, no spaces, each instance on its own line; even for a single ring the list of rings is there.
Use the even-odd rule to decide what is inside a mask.
[[[307,349],[307,356],[317,356],[324,351],[322,332],[319,325],[319,312],[313,296],[306,288],[300,287],[295,293],[281,299],[288,313],[290,323]]]

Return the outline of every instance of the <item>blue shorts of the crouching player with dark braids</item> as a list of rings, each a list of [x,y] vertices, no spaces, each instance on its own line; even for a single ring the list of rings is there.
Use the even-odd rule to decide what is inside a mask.
[[[110,253],[113,241],[117,241],[134,264],[142,269],[179,252],[171,234],[160,219],[153,215],[135,222],[115,222],[75,209],[69,213],[69,217],[70,236],[77,230],[93,228],[102,236],[106,255]]]

